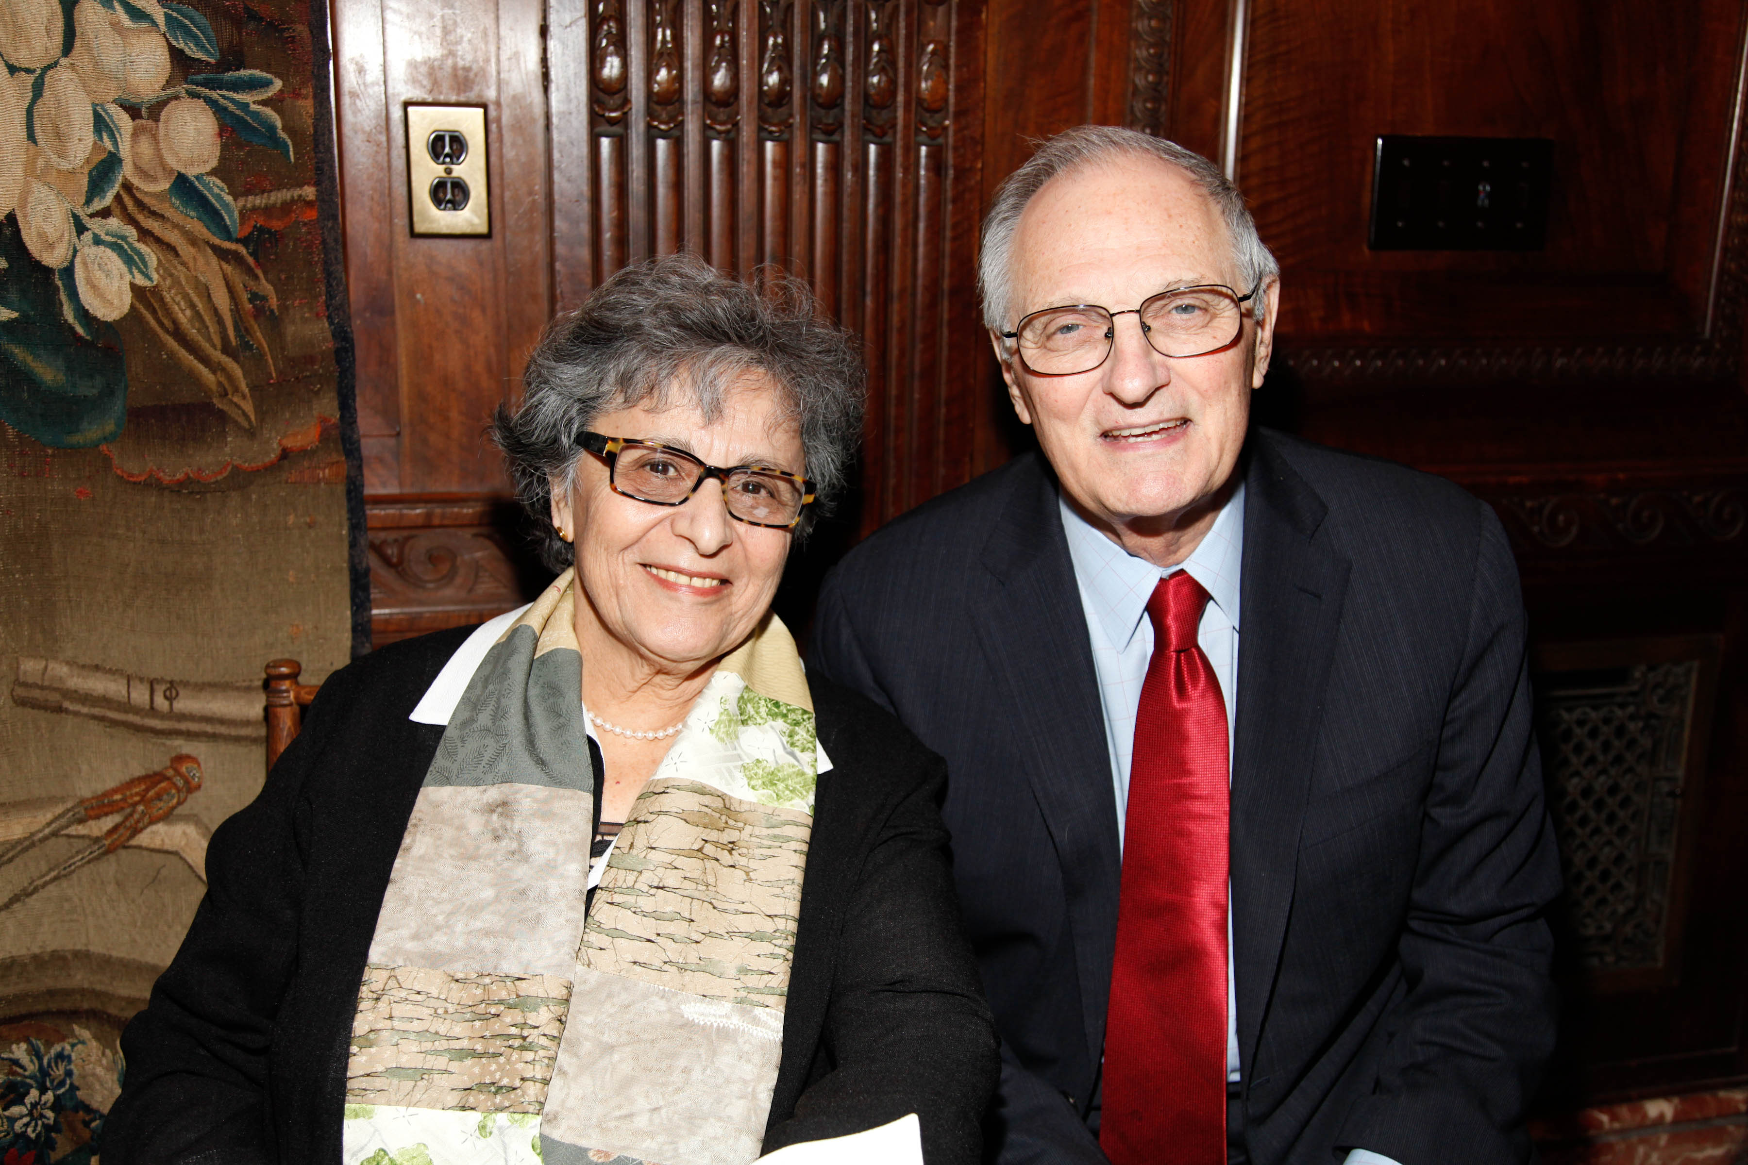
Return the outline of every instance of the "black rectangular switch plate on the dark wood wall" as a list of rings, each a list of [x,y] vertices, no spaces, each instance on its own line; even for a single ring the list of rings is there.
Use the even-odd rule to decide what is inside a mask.
[[[1377,138],[1374,252],[1538,252],[1554,180],[1549,138]]]

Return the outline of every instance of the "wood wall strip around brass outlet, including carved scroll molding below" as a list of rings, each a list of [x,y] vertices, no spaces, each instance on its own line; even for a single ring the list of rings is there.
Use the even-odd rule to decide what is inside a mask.
[[[484,428],[552,313],[544,0],[341,0],[346,281],[378,643],[521,603]],[[486,107],[489,238],[414,238],[407,101]]]

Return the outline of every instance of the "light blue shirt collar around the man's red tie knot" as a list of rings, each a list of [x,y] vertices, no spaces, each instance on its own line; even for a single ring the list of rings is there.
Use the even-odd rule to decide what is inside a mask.
[[[1201,540],[1180,566],[1162,571],[1147,559],[1140,559],[1115,541],[1099,533],[1091,522],[1075,514],[1066,498],[1059,500],[1063,512],[1063,533],[1068,534],[1068,557],[1073,561],[1075,582],[1080,592],[1091,601],[1092,613],[1105,629],[1106,641],[1119,651],[1129,645],[1141,617],[1147,615],[1147,599],[1154,587],[1166,575],[1178,569],[1189,573],[1208,592],[1220,613],[1231,620],[1238,631],[1239,569],[1245,557],[1245,482],[1239,479],[1238,489],[1220,507],[1213,519],[1213,529]]]

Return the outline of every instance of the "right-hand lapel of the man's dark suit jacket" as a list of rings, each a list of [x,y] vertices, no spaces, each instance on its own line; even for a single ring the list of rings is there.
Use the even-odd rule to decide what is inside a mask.
[[[1232,955],[1250,1083],[1299,866],[1299,828],[1349,562],[1316,540],[1327,507],[1253,431],[1232,755]]]

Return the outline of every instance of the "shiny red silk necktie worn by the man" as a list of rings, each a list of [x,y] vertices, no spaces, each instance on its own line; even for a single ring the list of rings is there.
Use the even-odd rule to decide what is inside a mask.
[[[1147,601],[1129,760],[1099,1148],[1113,1165],[1224,1165],[1227,1006],[1225,700],[1196,641],[1208,592],[1187,573]]]

